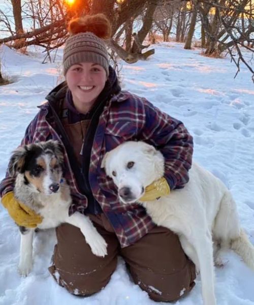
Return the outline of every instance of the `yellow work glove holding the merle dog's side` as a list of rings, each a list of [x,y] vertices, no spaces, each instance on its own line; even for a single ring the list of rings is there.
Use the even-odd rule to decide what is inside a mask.
[[[42,217],[36,214],[25,204],[19,202],[13,192],[9,192],[2,197],[2,203],[7,208],[9,215],[19,226],[26,228],[36,228],[42,222]]]

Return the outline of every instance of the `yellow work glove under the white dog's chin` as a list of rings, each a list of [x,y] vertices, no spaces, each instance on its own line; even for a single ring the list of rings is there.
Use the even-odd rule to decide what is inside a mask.
[[[168,182],[164,177],[162,177],[145,188],[145,194],[139,199],[139,201],[152,201],[162,196],[169,195],[169,193],[170,187]]]

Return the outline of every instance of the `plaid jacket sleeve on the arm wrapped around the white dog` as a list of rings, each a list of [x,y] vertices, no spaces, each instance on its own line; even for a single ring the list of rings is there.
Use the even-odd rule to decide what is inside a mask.
[[[165,158],[165,178],[170,189],[182,188],[188,182],[192,166],[193,137],[183,123],[144,101],[143,140],[161,151]]]

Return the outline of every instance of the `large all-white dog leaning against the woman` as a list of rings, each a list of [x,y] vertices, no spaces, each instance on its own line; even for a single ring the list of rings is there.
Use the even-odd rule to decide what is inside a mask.
[[[125,142],[107,153],[105,167],[125,204],[139,202],[153,222],[179,235],[186,255],[200,271],[205,305],[215,305],[214,260],[233,249],[254,270],[254,247],[240,228],[236,204],[226,186],[196,163],[183,189],[154,201],[140,202],[145,188],[164,175],[164,157],[144,142]]]

